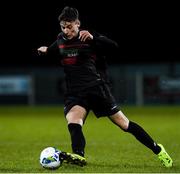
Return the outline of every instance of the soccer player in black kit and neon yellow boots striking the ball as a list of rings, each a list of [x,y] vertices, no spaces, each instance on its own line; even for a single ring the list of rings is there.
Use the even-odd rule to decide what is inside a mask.
[[[85,137],[82,126],[90,110],[97,118],[106,116],[112,123],[151,149],[163,166],[172,167],[173,161],[161,144],[137,123],[130,121],[118,109],[111,93],[104,56],[118,48],[118,44],[98,33],[80,29],[79,13],[76,8],[65,7],[58,17],[62,32],[49,47],[41,46],[41,54],[59,50],[66,75],[64,113],[71,136],[73,153],[63,153],[66,162],[86,165]]]

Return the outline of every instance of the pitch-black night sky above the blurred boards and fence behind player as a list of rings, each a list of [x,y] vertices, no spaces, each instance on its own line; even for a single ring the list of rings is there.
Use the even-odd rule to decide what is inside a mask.
[[[36,49],[56,39],[60,32],[57,18],[66,5],[79,10],[83,28],[95,29],[118,42],[118,55],[109,60],[112,64],[180,60],[177,4],[64,0],[16,4],[9,22],[5,21],[4,30],[10,32],[0,66],[56,66],[57,55],[37,56]]]

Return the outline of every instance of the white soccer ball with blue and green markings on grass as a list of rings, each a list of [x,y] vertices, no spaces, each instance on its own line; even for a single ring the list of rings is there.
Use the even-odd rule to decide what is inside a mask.
[[[46,169],[58,169],[62,163],[59,159],[60,153],[55,147],[46,147],[41,151],[40,164]]]

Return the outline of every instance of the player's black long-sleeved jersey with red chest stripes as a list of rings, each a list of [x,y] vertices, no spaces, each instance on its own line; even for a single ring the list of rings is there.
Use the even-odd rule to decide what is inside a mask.
[[[100,34],[93,34],[93,40],[82,42],[79,36],[68,40],[61,32],[48,51],[59,49],[67,90],[79,91],[107,80],[104,56],[115,47],[116,42]]]

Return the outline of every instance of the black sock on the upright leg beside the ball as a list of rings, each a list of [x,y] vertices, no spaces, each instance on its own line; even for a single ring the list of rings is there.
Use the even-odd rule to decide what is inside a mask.
[[[71,146],[73,153],[84,156],[85,138],[82,132],[82,126],[76,123],[68,124],[68,129],[71,135]]]

